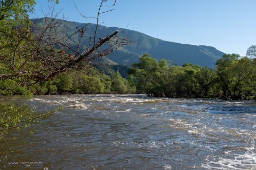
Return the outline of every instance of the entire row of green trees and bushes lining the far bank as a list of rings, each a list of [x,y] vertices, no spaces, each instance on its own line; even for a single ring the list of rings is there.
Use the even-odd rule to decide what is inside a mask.
[[[149,54],[132,64],[129,78],[91,74],[63,74],[44,82],[42,94],[144,93],[150,97],[189,97],[253,100],[256,92],[256,59],[225,54],[215,69],[191,63],[169,67]]]

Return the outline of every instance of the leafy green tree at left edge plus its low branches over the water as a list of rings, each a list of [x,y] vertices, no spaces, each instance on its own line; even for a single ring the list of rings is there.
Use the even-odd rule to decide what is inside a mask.
[[[31,58],[35,41],[28,12],[34,11],[35,3],[35,0],[0,1],[0,95],[32,95],[30,89],[35,87],[32,75],[39,64]],[[12,136],[10,131],[17,132],[60,109],[36,115],[25,108],[0,103],[0,142],[22,139]]]

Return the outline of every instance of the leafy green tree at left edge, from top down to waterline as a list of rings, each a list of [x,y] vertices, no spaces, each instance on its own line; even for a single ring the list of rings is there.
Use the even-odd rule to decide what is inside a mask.
[[[36,43],[28,17],[28,13],[34,12],[35,4],[35,0],[0,1],[0,81],[15,81],[17,87],[13,91],[19,87],[29,91],[34,84],[33,74],[40,68],[39,62],[33,59]]]

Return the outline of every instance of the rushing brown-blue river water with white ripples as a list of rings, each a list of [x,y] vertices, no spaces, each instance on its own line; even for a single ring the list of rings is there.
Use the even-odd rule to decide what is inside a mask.
[[[47,95],[26,103],[65,109],[3,144],[0,169],[256,169],[253,101]]]

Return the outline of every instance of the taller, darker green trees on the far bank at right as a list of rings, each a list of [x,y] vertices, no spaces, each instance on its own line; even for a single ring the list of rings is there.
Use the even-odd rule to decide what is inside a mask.
[[[225,54],[211,70],[191,63],[168,67],[150,55],[132,64],[129,81],[148,96],[252,99],[256,90],[256,59]]]

